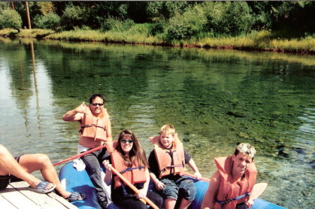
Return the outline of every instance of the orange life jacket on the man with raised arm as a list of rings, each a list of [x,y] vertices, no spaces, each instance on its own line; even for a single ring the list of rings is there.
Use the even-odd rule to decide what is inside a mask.
[[[80,127],[80,136],[88,137],[94,140],[106,140],[106,130],[109,124],[109,114],[104,114],[102,118],[93,116],[92,112],[84,114],[82,126]]]

